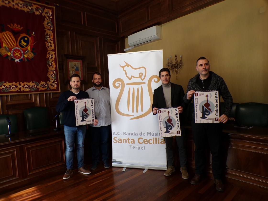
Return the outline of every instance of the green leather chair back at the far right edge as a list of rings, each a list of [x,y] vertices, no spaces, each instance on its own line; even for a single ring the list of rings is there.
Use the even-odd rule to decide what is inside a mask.
[[[236,106],[236,124],[241,126],[268,126],[268,104],[241,103]]]

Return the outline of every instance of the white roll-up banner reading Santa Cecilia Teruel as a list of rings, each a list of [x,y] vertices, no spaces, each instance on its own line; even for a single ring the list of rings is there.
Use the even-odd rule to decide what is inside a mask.
[[[166,170],[165,142],[151,109],[163,51],[109,54],[108,64],[112,166]]]

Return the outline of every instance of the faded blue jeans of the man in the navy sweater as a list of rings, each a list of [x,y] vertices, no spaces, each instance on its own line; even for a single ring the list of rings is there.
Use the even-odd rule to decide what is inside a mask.
[[[70,127],[64,125],[65,157],[67,169],[73,169],[74,148],[76,147],[77,168],[84,166],[84,140],[87,126]]]

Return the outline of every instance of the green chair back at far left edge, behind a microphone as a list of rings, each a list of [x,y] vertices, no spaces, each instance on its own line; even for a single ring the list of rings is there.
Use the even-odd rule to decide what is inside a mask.
[[[14,114],[0,114],[0,135],[8,134],[8,122],[6,117],[9,117],[11,122],[10,133],[18,132],[18,120],[17,115]]]

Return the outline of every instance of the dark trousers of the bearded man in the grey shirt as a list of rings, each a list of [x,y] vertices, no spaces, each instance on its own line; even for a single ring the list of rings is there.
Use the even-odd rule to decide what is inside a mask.
[[[92,161],[99,162],[100,148],[102,150],[102,161],[107,161],[109,158],[109,131],[111,125],[92,127],[90,126],[92,138]]]

